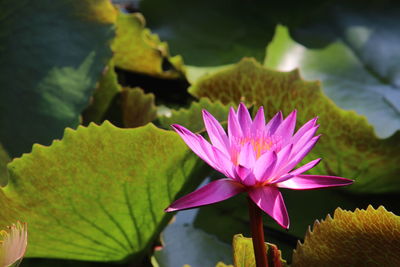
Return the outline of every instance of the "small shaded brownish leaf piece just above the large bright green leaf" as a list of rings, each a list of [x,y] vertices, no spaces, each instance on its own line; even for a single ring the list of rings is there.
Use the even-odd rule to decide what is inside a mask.
[[[142,126],[157,117],[157,108],[152,93],[145,94],[140,88],[124,88],[121,97],[124,127]]]

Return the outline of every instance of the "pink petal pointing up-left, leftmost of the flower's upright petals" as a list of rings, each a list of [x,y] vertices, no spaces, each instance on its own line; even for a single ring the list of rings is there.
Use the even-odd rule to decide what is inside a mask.
[[[183,141],[194,153],[196,153],[197,156],[212,168],[221,171],[218,165],[214,162],[212,146],[201,135],[195,135],[185,127],[178,124],[171,125],[171,127],[182,137]]]

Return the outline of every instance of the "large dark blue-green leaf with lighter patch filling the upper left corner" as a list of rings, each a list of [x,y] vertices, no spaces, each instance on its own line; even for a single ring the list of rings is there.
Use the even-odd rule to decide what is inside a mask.
[[[0,4],[0,141],[10,156],[76,127],[111,57],[108,0]]]

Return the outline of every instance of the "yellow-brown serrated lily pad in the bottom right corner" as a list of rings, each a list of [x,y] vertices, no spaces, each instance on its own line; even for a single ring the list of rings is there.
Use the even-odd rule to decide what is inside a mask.
[[[369,206],[316,221],[293,254],[300,266],[399,266],[400,217]]]

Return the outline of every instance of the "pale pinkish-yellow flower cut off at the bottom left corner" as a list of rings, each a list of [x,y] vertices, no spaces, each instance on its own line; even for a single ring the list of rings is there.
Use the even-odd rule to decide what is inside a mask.
[[[28,244],[26,223],[17,222],[0,231],[0,267],[18,266]]]

